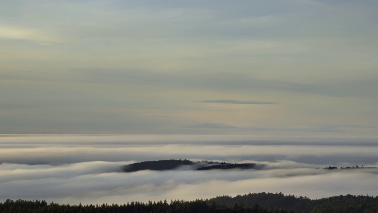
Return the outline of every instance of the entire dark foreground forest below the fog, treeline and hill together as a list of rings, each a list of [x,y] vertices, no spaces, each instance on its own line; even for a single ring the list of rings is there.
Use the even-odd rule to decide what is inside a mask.
[[[6,200],[0,213],[377,213],[378,196],[340,195],[310,200],[282,193],[217,196],[206,200],[171,200],[127,204],[47,204],[45,200]]]

